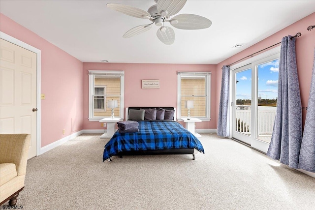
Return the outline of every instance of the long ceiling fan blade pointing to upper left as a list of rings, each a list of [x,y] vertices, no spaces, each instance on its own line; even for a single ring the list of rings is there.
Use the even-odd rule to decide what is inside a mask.
[[[108,3],[106,4],[108,8],[111,8],[113,10],[116,10],[118,12],[124,13],[126,15],[130,15],[136,18],[144,18],[144,19],[150,19],[151,15],[149,12],[146,12],[142,9],[129,6],[126,4],[119,4],[119,3]]]

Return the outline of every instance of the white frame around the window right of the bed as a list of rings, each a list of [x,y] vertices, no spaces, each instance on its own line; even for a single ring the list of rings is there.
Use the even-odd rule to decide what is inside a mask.
[[[187,117],[185,115],[182,116],[181,113],[181,101],[182,101],[182,77],[205,77],[205,96],[206,96],[206,116],[198,117],[198,119],[202,121],[210,121],[210,108],[211,108],[211,72],[177,72],[177,120],[181,120],[183,117]],[[193,117],[193,116],[191,116]]]

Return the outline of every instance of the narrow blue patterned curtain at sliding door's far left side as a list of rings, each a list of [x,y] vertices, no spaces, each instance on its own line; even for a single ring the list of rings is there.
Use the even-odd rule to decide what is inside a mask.
[[[218,135],[228,137],[229,130],[229,107],[228,98],[230,90],[230,67],[223,65],[222,67],[222,81],[221,81],[221,97],[218,117]]]

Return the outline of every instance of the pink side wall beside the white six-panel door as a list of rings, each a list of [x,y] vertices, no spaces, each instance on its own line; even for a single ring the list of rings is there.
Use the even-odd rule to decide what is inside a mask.
[[[0,30],[41,50],[41,147],[82,130],[82,62],[3,14]]]

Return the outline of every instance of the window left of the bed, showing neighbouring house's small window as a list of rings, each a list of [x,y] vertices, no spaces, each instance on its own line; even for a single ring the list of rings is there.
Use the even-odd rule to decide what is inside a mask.
[[[124,71],[89,70],[89,120],[111,117],[108,100],[117,100],[116,118],[124,118]]]

